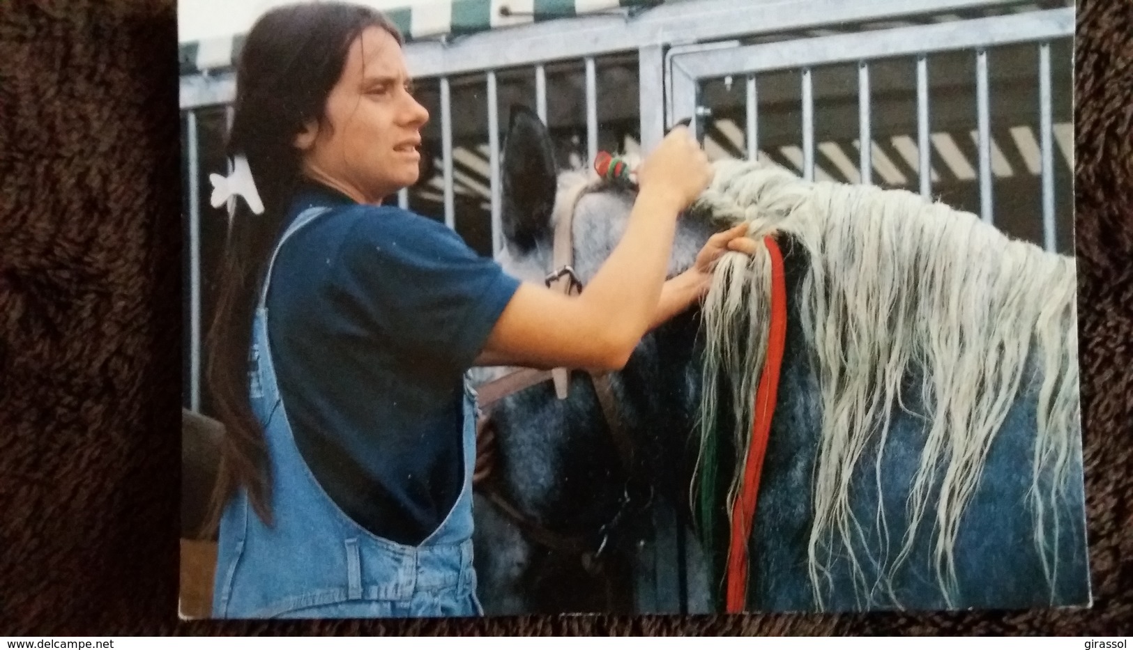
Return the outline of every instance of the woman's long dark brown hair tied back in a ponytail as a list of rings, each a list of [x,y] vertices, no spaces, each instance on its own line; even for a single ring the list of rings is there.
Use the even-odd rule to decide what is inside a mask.
[[[381,27],[402,43],[398,28],[374,9],[312,2],[265,12],[240,52],[225,148],[230,156],[247,156],[264,213],[253,214],[237,199],[208,331],[206,377],[225,431],[206,536],[215,533],[224,504],[239,487],[247,489],[256,514],[272,524],[267,448],[248,396],[255,303],[267,257],[303,176],[295,137],[312,120],[327,126],[326,99],[342,75],[351,43],[367,27]]]

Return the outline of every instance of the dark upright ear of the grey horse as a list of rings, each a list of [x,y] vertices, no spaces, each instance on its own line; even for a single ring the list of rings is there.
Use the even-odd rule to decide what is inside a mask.
[[[520,253],[551,236],[557,165],[551,134],[522,104],[511,106],[504,139],[500,220],[508,242]]]

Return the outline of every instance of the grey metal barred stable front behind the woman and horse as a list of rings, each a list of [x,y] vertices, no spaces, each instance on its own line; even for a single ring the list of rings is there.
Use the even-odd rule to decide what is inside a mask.
[[[390,15],[409,40],[434,154],[398,200],[482,254],[502,242],[501,106],[514,102],[550,125],[564,164],[599,149],[649,151],[666,127],[692,118],[709,157],[904,187],[1073,250],[1074,10],[1065,1],[466,0]],[[227,230],[205,179],[224,171],[239,44],[237,33],[180,51],[184,402],[205,414],[202,323]],[[654,571],[638,576],[639,611],[705,607],[706,585],[690,584],[685,571],[695,541],[675,522],[658,507],[655,534],[642,540]]]

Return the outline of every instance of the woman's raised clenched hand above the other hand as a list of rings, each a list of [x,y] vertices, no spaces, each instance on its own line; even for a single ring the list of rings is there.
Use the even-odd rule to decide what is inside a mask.
[[[666,197],[676,212],[700,196],[712,174],[708,156],[684,126],[668,131],[637,171],[640,191]]]

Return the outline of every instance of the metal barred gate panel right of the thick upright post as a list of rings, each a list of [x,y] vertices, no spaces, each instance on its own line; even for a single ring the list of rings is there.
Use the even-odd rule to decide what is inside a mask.
[[[991,127],[991,103],[993,93],[990,91],[989,74],[989,51],[1011,45],[1031,45],[1037,54],[1038,65],[1033,69],[1019,69],[1019,52],[1014,52],[1008,72],[1016,79],[1030,82],[1036,80],[1038,96],[1029,105],[1022,101],[1015,92],[1010,99],[1005,99],[1003,109],[998,112],[1000,120],[999,132],[1008,132],[1003,128],[1002,122],[1008,122],[1010,132],[1020,149],[1021,156],[1028,156],[1026,166],[1037,171],[1040,179],[1041,195],[1041,245],[1047,250],[1057,249],[1057,226],[1055,222],[1055,129],[1054,129],[1054,91],[1051,88],[1051,43],[1056,42],[1066,45],[1068,39],[1074,33],[1074,10],[1071,8],[1049,9],[1011,14],[1003,16],[981,17],[972,19],[949,20],[938,24],[926,24],[915,26],[902,26],[878,31],[868,31],[855,34],[835,34],[818,36],[790,42],[764,43],[747,46],[710,48],[698,52],[676,53],[668,60],[671,84],[667,88],[666,99],[668,104],[668,123],[681,117],[692,118],[698,135],[702,138],[705,132],[712,130],[713,111],[706,105],[704,82],[731,76],[743,76],[746,78],[744,108],[744,152],[749,160],[757,160],[759,155],[759,95],[757,79],[761,75],[778,71],[795,71],[800,84],[801,95],[801,119],[798,121],[798,130],[801,134],[799,143],[802,151],[801,164],[792,165],[801,168],[803,178],[813,180],[818,168],[816,157],[819,153],[816,148],[816,99],[815,99],[815,75],[816,69],[833,67],[838,63],[851,63],[857,67],[858,85],[858,139],[853,143],[859,153],[857,170],[846,169],[843,160],[837,154],[827,153],[829,162],[841,166],[841,174],[824,172],[824,180],[841,180],[845,182],[871,183],[872,170],[887,164],[887,156],[884,149],[876,149],[874,143],[877,134],[874,132],[875,122],[879,121],[878,116],[872,110],[870,93],[870,69],[875,61],[900,61],[905,58],[915,63],[915,71],[912,72],[905,87],[901,87],[900,82],[894,84],[891,79],[887,87],[888,93],[894,91],[910,92],[915,88],[915,146],[903,147],[901,153],[906,159],[906,164],[918,179],[917,188],[921,196],[931,198],[934,178],[939,180],[939,173],[934,169],[932,161],[934,144],[937,146],[939,162],[949,170],[957,170],[960,164],[955,163],[954,155],[945,153],[949,134],[932,134],[930,105],[944,103],[946,114],[945,121],[948,130],[960,130],[972,121],[976,122],[976,145],[978,151],[978,197],[979,207],[973,209],[985,221],[994,222],[994,176],[1011,174],[1010,163],[1006,162],[1004,149],[1010,145],[997,144],[993,138]],[[942,97],[937,102],[930,102],[930,80],[928,72],[928,60],[930,55],[939,53],[962,53],[971,57],[976,65],[976,110],[964,111],[964,97],[960,102],[955,97]],[[1060,61],[1065,62],[1065,61]],[[1013,68],[1013,69],[1012,69]],[[953,76],[949,74],[949,76]],[[1066,79],[1066,71],[1059,75]],[[915,85],[913,85],[913,83]],[[1016,84],[1017,85],[1017,84]],[[1068,87],[1064,84],[1059,87],[1064,94]],[[1065,96],[1065,95],[1064,95]],[[1064,111],[1065,112],[1065,111]],[[1063,120],[1068,120],[1068,116],[1060,116]],[[974,120],[972,119],[974,118]],[[1070,125],[1065,121],[1060,125],[1060,135],[1068,137]],[[832,129],[827,129],[832,130]],[[833,129],[837,130],[837,129]],[[905,137],[902,129],[887,129],[889,137]],[[1038,134],[1038,144],[1034,135]],[[843,130],[843,139],[846,131]],[[930,142],[935,139],[937,142]],[[1068,143],[1063,143],[1068,149]],[[830,146],[836,146],[830,144]],[[993,161],[993,152],[997,156]],[[947,156],[947,157],[946,157]],[[948,159],[953,160],[948,160]],[[1037,159],[1037,160],[1036,160]],[[1068,160],[1067,160],[1068,162]],[[888,163],[892,166],[892,163]],[[997,168],[1008,168],[1006,172]],[[1037,168],[1037,169],[1036,169]],[[799,171],[794,169],[793,171]],[[857,174],[854,173],[857,171]],[[998,173],[997,173],[998,172]],[[841,176],[841,178],[834,178]],[[953,174],[957,180],[962,179],[963,172]],[[884,185],[884,183],[881,183]],[[903,183],[901,183],[903,185]],[[1065,215],[1064,215],[1065,216]],[[1017,216],[1016,216],[1017,219]]]

